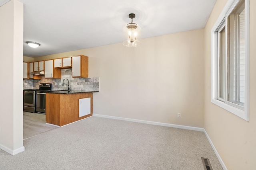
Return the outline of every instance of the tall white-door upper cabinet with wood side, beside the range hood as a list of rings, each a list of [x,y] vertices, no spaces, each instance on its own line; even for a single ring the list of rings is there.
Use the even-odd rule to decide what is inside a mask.
[[[44,78],[61,78],[61,70],[54,68],[54,60],[44,61]]]

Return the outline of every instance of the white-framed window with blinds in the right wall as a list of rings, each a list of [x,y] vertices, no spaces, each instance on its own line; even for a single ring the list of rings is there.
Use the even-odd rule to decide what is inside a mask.
[[[248,121],[249,0],[229,0],[211,33],[211,102]]]

